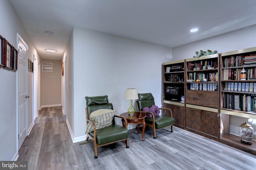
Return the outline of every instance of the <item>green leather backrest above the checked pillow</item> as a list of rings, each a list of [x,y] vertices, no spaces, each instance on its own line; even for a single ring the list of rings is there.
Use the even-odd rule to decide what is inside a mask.
[[[98,109],[112,109],[113,106],[111,103],[108,103],[108,96],[93,96],[93,97],[85,97],[86,99],[86,107],[87,107],[87,115],[86,117],[90,119],[90,114]]]

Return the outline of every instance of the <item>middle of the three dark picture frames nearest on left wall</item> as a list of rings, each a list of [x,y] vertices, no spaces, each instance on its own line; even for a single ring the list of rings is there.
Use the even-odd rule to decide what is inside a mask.
[[[13,65],[12,45],[4,39],[4,68],[6,70],[12,70]]]

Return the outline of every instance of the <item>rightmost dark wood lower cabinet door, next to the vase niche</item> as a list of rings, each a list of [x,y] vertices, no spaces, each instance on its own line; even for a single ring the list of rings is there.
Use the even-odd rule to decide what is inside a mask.
[[[201,131],[218,137],[218,113],[201,110]]]

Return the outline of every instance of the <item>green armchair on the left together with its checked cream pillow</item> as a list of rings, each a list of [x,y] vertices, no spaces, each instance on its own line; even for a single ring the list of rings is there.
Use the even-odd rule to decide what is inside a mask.
[[[125,117],[114,115],[115,111],[113,111],[112,104],[108,103],[108,96],[86,96],[85,99],[86,141],[88,141],[89,137],[93,140],[94,158],[98,158],[98,147],[125,140],[126,148],[129,148],[127,121]],[[115,117],[123,119],[125,127],[116,125]]]

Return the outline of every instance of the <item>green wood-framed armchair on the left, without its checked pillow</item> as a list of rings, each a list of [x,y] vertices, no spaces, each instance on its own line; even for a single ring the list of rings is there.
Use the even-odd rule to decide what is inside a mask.
[[[87,128],[89,122],[93,124],[93,131],[87,133],[86,141],[90,137],[94,143],[94,158],[98,158],[97,148],[105,145],[109,145],[111,143],[116,143],[119,141],[126,140],[126,148],[129,148],[128,143],[128,129],[127,129],[127,121],[125,117],[114,115],[112,117],[112,125],[107,127],[103,127],[100,129],[96,129],[96,123],[92,121],[90,118],[90,114],[93,111],[100,111],[99,109],[112,109],[113,106],[111,103],[108,103],[108,96],[94,96],[94,97],[85,97],[86,99],[86,123]],[[95,113],[95,112],[94,112]],[[123,119],[125,121],[125,127],[115,124],[115,117]],[[102,117],[101,117],[102,118]],[[91,126],[92,127],[92,126]]]

